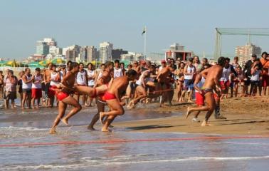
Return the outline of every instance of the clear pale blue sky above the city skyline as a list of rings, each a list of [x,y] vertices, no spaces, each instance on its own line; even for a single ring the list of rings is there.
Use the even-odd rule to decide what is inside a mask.
[[[194,53],[212,54],[214,28],[269,28],[269,1],[87,1],[1,0],[0,58],[25,58],[35,53],[36,41],[53,37],[58,46],[99,46],[163,53],[174,42]],[[247,36],[223,37],[223,53],[233,55]],[[269,51],[269,37],[253,37]],[[231,56],[230,56],[231,57]]]

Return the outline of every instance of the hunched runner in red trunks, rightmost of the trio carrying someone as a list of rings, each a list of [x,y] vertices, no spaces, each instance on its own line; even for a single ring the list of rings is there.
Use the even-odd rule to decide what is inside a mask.
[[[137,72],[135,70],[130,70],[126,73],[126,76],[116,78],[110,88],[103,96],[103,100],[107,102],[107,105],[110,107],[109,112],[100,112],[100,121],[107,116],[105,120],[105,125],[102,127],[102,132],[108,132],[108,126],[112,121],[117,117],[117,115],[123,115],[125,110],[122,108],[122,105],[125,105],[122,102],[121,97],[129,84],[129,81],[135,80]]]

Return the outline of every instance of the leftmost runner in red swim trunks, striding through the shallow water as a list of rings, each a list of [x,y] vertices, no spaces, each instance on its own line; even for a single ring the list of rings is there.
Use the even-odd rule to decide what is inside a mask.
[[[82,108],[78,101],[75,100],[75,98],[73,98],[72,96],[70,96],[70,93],[74,92],[73,86],[75,84],[76,74],[78,73],[78,63],[72,63],[70,65],[70,69],[71,70],[66,74],[66,76],[63,77],[63,80],[55,89],[56,97],[59,100],[59,104],[58,115],[54,120],[53,126],[50,130],[51,134],[56,133],[56,127],[60,123],[60,120],[62,120],[65,125],[68,125],[68,119],[78,113]],[[70,112],[68,113],[68,115],[65,116],[65,118],[63,118],[68,105],[73,106],[73,109],[70,110]]]

